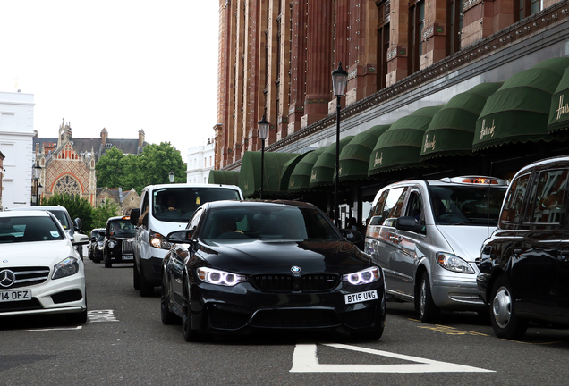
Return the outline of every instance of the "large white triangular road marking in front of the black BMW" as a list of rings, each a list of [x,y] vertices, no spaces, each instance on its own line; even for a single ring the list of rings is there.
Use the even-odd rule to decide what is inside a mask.
[[[344,344],[325,344],[333,348],[344,348],[368,354],[392,357],[417,364],[401,365],[320,365],[318,363],[316,344],[297,344],[293,354],[291,373],[495,373],[493,370],[481,369],[467,365],[455,365],[448,362],[411,357],[371,348],[361,348]]]

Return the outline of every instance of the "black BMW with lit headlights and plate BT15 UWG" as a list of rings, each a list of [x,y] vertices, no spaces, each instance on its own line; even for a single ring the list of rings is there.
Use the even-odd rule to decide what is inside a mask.
[[[254,330],[332,330],[377,340],[383,272],[316,206],[217,201],[200,206],[163,263],[163,323],[185,340]]]

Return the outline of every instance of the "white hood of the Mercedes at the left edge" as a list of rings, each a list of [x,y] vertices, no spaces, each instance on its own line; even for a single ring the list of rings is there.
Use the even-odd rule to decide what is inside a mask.
[[[3,244],[0,256],[0,269],[13,266],[48,266],[54,265],[67,257],[79,259],[69,240],[35,241]]]

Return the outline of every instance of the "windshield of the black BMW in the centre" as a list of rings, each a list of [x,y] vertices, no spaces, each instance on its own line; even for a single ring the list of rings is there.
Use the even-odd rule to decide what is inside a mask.
[[[340,239],[332,222],[318,209],[293,206],[212,209],[202,226],[203,239]]]

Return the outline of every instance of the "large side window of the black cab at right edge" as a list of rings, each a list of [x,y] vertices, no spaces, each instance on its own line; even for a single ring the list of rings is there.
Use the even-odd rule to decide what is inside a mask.
[[[524,222],[561,222],[565,214],[567,170],[540,172],[531,185],[531,202]]]

